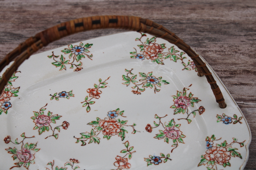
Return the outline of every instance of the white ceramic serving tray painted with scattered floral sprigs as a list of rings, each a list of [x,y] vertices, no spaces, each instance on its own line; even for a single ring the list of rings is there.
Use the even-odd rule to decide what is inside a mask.
[[[1,169],[244,169],[249,126],[206,65],[224,109],[188,55],[149,34],[31,56],[0,96]]]

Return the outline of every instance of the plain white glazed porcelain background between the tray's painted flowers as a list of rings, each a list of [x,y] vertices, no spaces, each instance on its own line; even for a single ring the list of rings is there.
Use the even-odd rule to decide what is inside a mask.
[[[28,167],[28,169],[31,170],[52,169],[52,167],[55,168],[56,166],[58,166],[58,168],[67,168],[68,170],[75,168],[75,166],[79,166],[79,168],[77,168],[78,170],[112,170],[118,169],[118,166],[115,166],[117,164],[120,165],[120,168],[123,167],[121,164],[126,164],[124,167],[131,170],[206,170],[207,167],[209,167],[209,169],[212,168],[212,170],[242,170],[249,156],[248,148],[251,141],[251,132],[244,115],[218,76],[207,64],[223,93],[225,102],[227,103],[225,109],[221,109],[218,103],[216,103],[205,76],[198,77],[197,72],[193,70],[191,66],[187,67],[191,70],[182,70],[184,66],[180,60],[174,62],[171,61],[170,58],[163,59],[163,65],[152,62],[147,58],[144,60],[131,58],[130,56],[132,56],[132,54],[130,54],[130,52],[134,52],[135,49],[137,54],[143,54],[143,51],[140,52],[140,47],[137,46],[141,45],[141,42],[135,41],[135,39],[140,38],[140,36],[141,34],[137,32],[125,32],[82,41],[83,46],[87,43],[93,44],[88,48],[90,52],[86,53],[88,55],[92,54],[93,57],[85,56],[85,58],[80,60],[83,63],[81,66],[83,69],[80,71],[74,71],[74,68],[70,68],[71,64],[67,64],[66,70],[60,70],[60,67],[55,67],[52,64],[54,62],[53,59],[47,57],[51,56],[53,51],[55,56],[59,56],[56,60],[60,61],[60,57],[63,55],[66,60],[70,60],[71,62],[72,58],[69,59],[68,57],[71,53],[64,54],[64,52],[62,52],[62,50],[68,48],[68,46],[33,55],[25,61],[18,69],[20,72],[15,74],[18,78],[12,81],[12,88],[20,87],[19,92],[16,93],[18,96],[10,97],[8,102],[12,104],[12,107],[8,109],[7,114],[3,112],[0,115],[1,169],[9,169],[15,166],[14,163],[19,162],[19,158],[22,154],[24,156],[24,153],[19,152],[20,154],[16,154],[18,158],[13,160],[12,156],[15,154],[10,154],[5,149],[16,147],[19,151],[26,143],[37,143],[36,149],[40,150],[38,152],[33,151],[33,153],[31,151],[32,156],[30,155],[30,160],[32,162],[30,162],[31,164]],[[147,38],[150,39],[152,36],[147,34],[147,36],[141,38],[141,41],[146,42]],[[167,53],[170,52],[168,49],[172,46],[174,46],[176,50],[179,50],[177,54],[182,52],[182,50],[175,45],[160,38],[156,38],[154,43],[159,45],[164,44],[164,47],[166,47],[163,48],[161,52],[161,54],[164,54],[163,57],[168,55]],[[79,46],[80,42],[74,43],[73,47],[76,45]],[[182,55],[182,57],[184,56],[186,57],[184,63],[187,64],[189,57],[187,54]],[[90,60],[90,58],[92,60]],[[161,87],[157,87],[160,89],[159,92],[154,92],[154,87],[152,89],[150,87],[143,87],[145,88],[144,92],[140,92],[141,94],[138,95],[133,94],[133,84],[129,86],[122,84],[126,82],[123,80],[122,76],[128,73],[125,69],[133,69],[132,73],[137,75],[136,80],[138,83],[136,84],[140,84],[139,80],[142,79],[139,72],[145,74],[152,72],[152,76],[156,78],[162,77],[161,80],[166,80],[169,84],[161,82]],[[3,72],[1,75],[2,74]],[[134,75],[129,74],[129,77]],[[95,88],[94,84],[99,85],[99,79],[102,79],[101,82],[108,79],[106,80],[108,84],[105,85],[106,88],[99,89],[101,91],[99,94],[100,98],[97,99],[98,97],[95,96],[95,98],[91,100],[95,101],[95,103],[90,105],[91,110],[87,112],[87,106],[83,107],[84,103],[81,102],[85,100],[86,96],[91,99],[87,89]],[[189,87],[189,85],[191,86]],[[189,115],[189,119],[191,120],[189,124],[187,120],[178,120],[180,118],[186,118],[186,113],[182,114],[181,112],[174,115],[175,108],[170,108],[174,105],[173,96],[177,96],[177,91],[182,92],[184,87],[189,88],[185,96],[188,96],[191,92],[193,98],[195,97],[201,100],[198,101],[198,103],[194,103],[194,107],[190,104],[188,109],[185,109],[188,111],[188,114],[197,110],[200,106],[205,108],[202,115],[199,115],[199,111],[195,111],[195,117],[193,117],[193,114]],[[142,88],[142,85],[140,85],[140,88]],[[55,98],[50,100],[52,97],[49,96],[50,94],[53,95],[57,93],[56,97],[58,97],[58,94],[62,91],[72,91],[74,97],[70,96],[69,99],[64,97],[58,98],[58,101],[55,100]],[[182,94],[183,93],[181,93],[181,95]],[[46,104],[47,106],[44,107]],[[56,126],[60,126],[60,132],[58,132],[58,129],[54,131],[54,134],[58,134],[58,139],[51,136],[51,129],[49,131],[45,130],[41,135],[39,135],[38,129],[33,129],[35,122],[33,122],[34,120],[31,119],[31,117],[35,116],[34,111],[39,112],[42,107],[46,108],[44,115],[47,115],[48,111],[50,111],[52,115],[58,114],[62,116],[59,120],[55,120],[56,123],[50,122],[52,129]],[[90,132],[91,129],[94,128],[87,123],[96,121],[96,117],[104,120],[104,118],[108,118],[109,111],[114,111],[117,108],[120,108],[119,112],[124,110],[123,116],[126,117],[118,115],[116,120],[119,118],[121,121],[128,121],[125,125],[133,125],[133,123],[136,123],[134,128],[137,132],[135,134],[132,134],[133,128],[131,126],[125,126],[128,133],[125,133],[125,139],[123,141],[117,134],[113,135],[108,140],[107,138],[103,138],[102,130],[96,132],[97,129],[94,129],[96,134],[99,133],[97,136],[100,138],[99,144],[95,144],[94,142],[88,144],[89,140],[86,141],[86,145],[84,146],[81,146],[82,142],[80,141],[76,143],[76,138],[81,137],[80,133]],[[237,119],[242,117],[240,120],[241,123],[237,122],[233,124],[236,121],[234,119],[232,119],[232,122],[229,124],[225,124],[223,121],[217,122],[218,118],[216,116],[222,115],[223,113],[232,118],[234,118],[234,114],[237,115]],[[157,140],[154,138],[156,134],[160,134],[159,130],[166,130],[161,124],[159,127],[153,128],[151,133],[145,130],[147,124],[155,127],[154,121],[157,124],[159,123],[159,120],[155,118],[156,114],[159,117],[168,115],[161,118],[161,122],[163,123],[166,122],[168,124],[169,121],[173,119],[176,123],[175,125],[180,124],[180,132],[176,130],[177,133],[175,133],[174,130],[172,132],[169,131],[169,134],[175,136],[175,134],[179,135],[179,133],[182,132],[185,136],[182,137],[184,143],[178,142],[178,146],[173,149],[175,146],[172,146],[174,144],[172,138],[168,138],[169,144],[164,142],[165,139]],[[63,121],[69,123],[67,129],[63,129],[63,126],[67,124],[64,123],[64,125],[61,126]],[[116,131],[119,132],[118,128]],[[14,142],[16,138],[18,138],[18,143],[23,140],[20,135],[24,132],[26,137],[35,137],[24,139],[23,146],[21,146],[22,144],[13,144],[12,142]],[[224,141],[230,144],[234,141],[233,138],[236,138],[239,143],[245,141],[243,147],[240,147],[239,143],[232,145],[232,148],[238,149],[236,151],[241,154],[242,159],[229,156],[231,152],[224,153],[224,151],[220,153],[220,157],[224,157],[221,156],[221,154],[226,154],[226,157],[229,157],[227,161],[230,163],[230,166],[227,165],[223,167],[220,165],[221,163],[218,164],[216,162],[214,166],[198,166],[201,155],[205,155],[207,151],[205,138],[211,138],[212,135],[216,137],[216,140],[213,141],[213,146],[221,144]],[[10,143],[7,142],[8,144],[6,144],[6,140],[4,141],[4,138],[7,136],[10,136],[12,141]],[[134,147],[131,152],[136,151],[132,153],[132,158],[128,159],[128,164],[124,163],[125,159],[123,159],[124,162],[118,162],[116,160],[117,155],[124,157],[127,153],[120,153],[122,150],[126,149],[124,145],[126,141],[129,141],[130,144],[128,148],[131,146]],[[172,149],[173,151],[171,152]],[[144,161],[144,158],[151,159],[149,155],[163,157],[160,153],[163,153],[164,157],[170,154],[169,158],[172,160],[168,159],[164,162],[164,158],[162,158],[162,162],[159,161],[159,165],[152,163],[152,165],[147,166],[148,162]],[[24,157],[26,157],[26,154]],[[128,154],[124,158],[128,158]],[[215,155],[214,159],[216,158],[217,155]],[[22,158],[20,158],[20,160],[21,159]],[[25,160],[25,158],[23,159]],[[64,166],[66,162],[70,162],[70,159],[77,159],[80,163],[75,163],[73,167],[67,164]],[[53,160],[54,166],[47,165],[49,162],[53,162]],[[35,164],[33,164],[33,161]],[[21,167],[14,167],[13,169],[21,170],[26,168],[21,165]]]

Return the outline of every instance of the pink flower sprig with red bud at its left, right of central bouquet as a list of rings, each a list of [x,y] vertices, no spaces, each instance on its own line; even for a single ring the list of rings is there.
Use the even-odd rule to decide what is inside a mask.
[[[168,115],[165,115],[163,117],[159,117],[158,115],[155,115],[156,119],[159,119],[159,123],[156,123],[154,121],[154,125],[155,127],[152,127],[150,124],[147,124],[146,126],[146,131],[148,131],[149,133],[152,132],[153,128],[158,127],[160,124],[162,124],[164,131],[163,130],[159,130],[160,134],[156,134],[156,136],[154,138],[156,139],[164,139],[164,142],[169,144],[169,140],[172,140],[173,144],[172,147],[174,147],[172,149],[172,151],[178,147],[179,143],[184,144],[183,139],[184,137],[186,137],[185,135],[182,134],[182,132],[180,131],[180,124],[176,124],[174,122],[174,119],[172,119],[169,123],[162,123],[161,122],[161,118],[164,118]],[[179,143],[178,143],[179,142]],[[171,152],[172,152],[171,151]]]

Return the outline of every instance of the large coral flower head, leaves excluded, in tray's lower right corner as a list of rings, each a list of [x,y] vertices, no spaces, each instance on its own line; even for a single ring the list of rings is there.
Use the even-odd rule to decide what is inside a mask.
[[[219,165],[223,165],[227,163],[230,159],[230,152],[226,150],[224,147],[212,147],[206,151],[204,155],[204,159],[215,161]]]

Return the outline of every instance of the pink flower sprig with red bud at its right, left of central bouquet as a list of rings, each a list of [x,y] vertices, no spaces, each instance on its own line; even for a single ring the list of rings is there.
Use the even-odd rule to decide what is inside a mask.
[[[34,130],[35,129],[38,129],[38,133],[39,135],[41,135],[43,132],[46,131],[49,131],[49,130],[52,130],[52,135],[48,136],[48,137],[55,137],[56,139],[58,139],[59,137],[59,134],[58,133],[54,133],[55,129],[58,130],[60,132],[60,128],[59,127],[62,127],[63,129],[68,129],[68,126],[69,126],[69,123],[64,121],[62,122],[62,125],[60,126],[56,126],[54,129],[52,129],[52,125],[50,123],[56,123],[55,120],[59,120],[60,115],[52,115],[52,112],[48,111],[47,115],[44,115],[44,110],[46,110],[46,107],[47,104],[40,108],[39,112],[35,112],[34,111],[34,115],[35,116],[32,116],[31,119],[33,119],[34,123],[36,123],[36,126],[33,128]],[[51,128],[51,129],[50,129]],[[45,139],[47,139],[48,137],[46,137]]]

